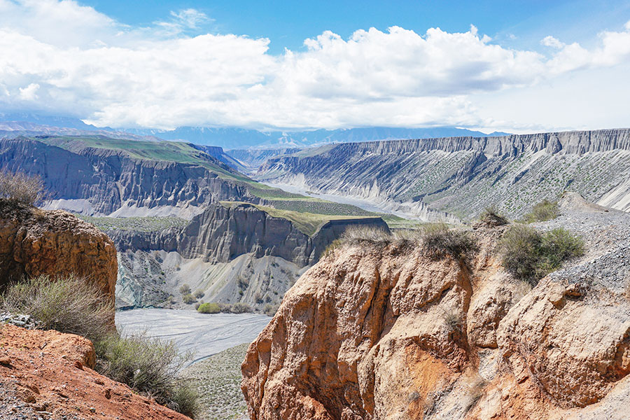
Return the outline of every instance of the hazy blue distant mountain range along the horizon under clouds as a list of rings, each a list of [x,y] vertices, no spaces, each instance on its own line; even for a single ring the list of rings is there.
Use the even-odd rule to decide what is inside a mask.
[[[435,137],[496,137],[504,132],[485,134],[456,127],[398,128],[365,127],[337,130],[311,130],[300,132],[260,132],[239,127],[179,127],[175,130],[128,129],[114,130],[95,127],[78,118],[41,116],[32,113],[0,113],[0,137],[22,134],[82,135],[103,134],[116,138],[155,138],[179,140],[204,146],[220,146],[225,150],[304,148],[330,143],[391,139],[429,139]]]

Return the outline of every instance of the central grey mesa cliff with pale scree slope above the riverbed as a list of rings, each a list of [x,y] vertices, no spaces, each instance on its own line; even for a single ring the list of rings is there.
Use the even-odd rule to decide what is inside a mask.
[[[216,204],[184,228],[108,231],[120,252],[117,305],[164,305],[186,283],[202,290],[205,302],[244,302],[262,310],[279,304],[305,267],[350,225],[388,230],[381,218],[349,218],[328,221],[309,236],[251,204]]]

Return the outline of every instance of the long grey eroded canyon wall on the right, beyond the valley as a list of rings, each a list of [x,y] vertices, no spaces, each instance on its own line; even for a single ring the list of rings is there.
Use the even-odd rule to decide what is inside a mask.
[[[520,216],[565,190],[630,210],[629,151],[628,129],[367,141],[287,152],[256,177],[427,220],[470,218],[489,204]]]

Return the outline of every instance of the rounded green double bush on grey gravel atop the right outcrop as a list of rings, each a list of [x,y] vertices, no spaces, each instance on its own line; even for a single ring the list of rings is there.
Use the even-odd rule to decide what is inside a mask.
[[[532,285],[562,262],[584,253],[584,242],[566,229],[541,234],[526,225],[514,225],[499,241],[503,267],[518,279]]]

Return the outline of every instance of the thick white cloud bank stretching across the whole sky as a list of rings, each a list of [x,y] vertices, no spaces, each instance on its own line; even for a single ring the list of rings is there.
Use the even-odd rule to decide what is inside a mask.
[[[512,50],[475,27],[391,27],[325,31],[275,56],[266,38],[188,35],[209,22],[187,9],[127,27],[72,0],[0,0],[0,109],[111,127],[505,127],[471,98],[630,62],[630,22],[590,50],[552,36],[542,52]]]

